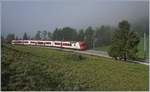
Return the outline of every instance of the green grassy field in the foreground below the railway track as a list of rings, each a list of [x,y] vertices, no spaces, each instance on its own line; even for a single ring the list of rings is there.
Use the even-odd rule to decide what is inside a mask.
[[[49,48],[2,45],[2,90],[148,90],[148,66]]]

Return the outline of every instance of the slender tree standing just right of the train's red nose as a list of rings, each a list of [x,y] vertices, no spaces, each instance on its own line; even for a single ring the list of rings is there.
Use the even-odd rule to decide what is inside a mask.
[[[88,27],[85,30],[85,38],[84,38],[88,48],[93,47],[93,39],[94,39],[94,30],[92,29],[92,27]]]

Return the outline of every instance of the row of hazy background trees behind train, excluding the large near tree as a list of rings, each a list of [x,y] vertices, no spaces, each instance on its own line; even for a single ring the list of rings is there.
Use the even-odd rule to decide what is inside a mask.
[[[11,40],[59,40],[59,41],[85,41],[88,48],[95,48],[102,45],[109,45],[112,39],[114,28],[102,25],[101,27],[93,28],[91,26],[86,29],[76,30],[71,27],[56,28],[53,32],[46,30],[38,30],[35,36],[30,37],[26,32],[22,38],[18,38],[15,34],[8,34],[6,42]],[[2,39],[4,39],[2,37]]]

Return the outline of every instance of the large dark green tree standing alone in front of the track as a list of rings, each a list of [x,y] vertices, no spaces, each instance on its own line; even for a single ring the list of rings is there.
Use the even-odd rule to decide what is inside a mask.
[[[122,21],[119,23],[119,29],[115,32],[110,51],[110,56],[115,59],[135,59],[137,45],[140,41],[137,33],[130,31],[130,24],[128,21]]]

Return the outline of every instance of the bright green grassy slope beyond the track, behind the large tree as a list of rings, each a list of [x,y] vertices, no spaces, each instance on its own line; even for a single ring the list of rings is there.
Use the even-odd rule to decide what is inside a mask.
[[[101,46],[98,48],[95,48],[95,50],[100,50],[100,51],[108,51],[110,46]],[[144,59],[144,40],[141,39],[140,43],[138,45],[138,53],[137,53],[138,58]]]

